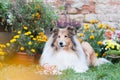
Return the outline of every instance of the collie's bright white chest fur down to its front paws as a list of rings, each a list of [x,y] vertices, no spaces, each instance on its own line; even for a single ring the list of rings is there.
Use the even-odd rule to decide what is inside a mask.
[[[82,56],[77,56],[74,51],[59,50],[54,53],[48,53],[45,56],[43,55],[42,57],[44,58],[41,59],[41,65],[56,65],[60,71],[68,68],[72,68],[76,72],[85,72],[88,70],[88,66],[82,60]]]

